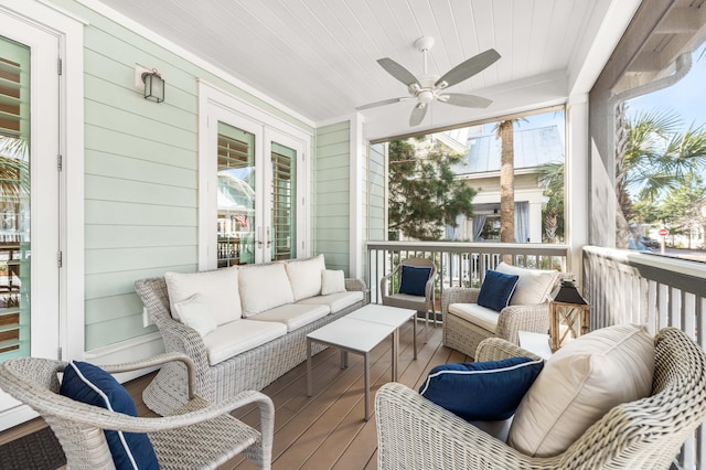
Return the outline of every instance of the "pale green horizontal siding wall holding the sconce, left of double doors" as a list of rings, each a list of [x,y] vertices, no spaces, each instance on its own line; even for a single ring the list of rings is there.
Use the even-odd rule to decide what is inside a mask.
[[[156,331],[142,327],[136,279],[196,270],[199,79],[306,132],[313,129],[74,0],[52,3],[87,22],[85,334],[94,350]],[[164,103],[148,102],[135,88],[136,64],[160,72]],[[327,147],[335,153],[332,138]]]

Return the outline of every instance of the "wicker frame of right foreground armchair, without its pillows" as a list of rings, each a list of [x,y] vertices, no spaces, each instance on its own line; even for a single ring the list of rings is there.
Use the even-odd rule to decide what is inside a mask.
[[[478,360],[530,355],[493,338]],[[655,338],[652,395],[616,406],[564,453],[522,455],[398,383],[375,400],[377,468],[386,469],[667,469],[706,417],[706,355],[681,330]]]

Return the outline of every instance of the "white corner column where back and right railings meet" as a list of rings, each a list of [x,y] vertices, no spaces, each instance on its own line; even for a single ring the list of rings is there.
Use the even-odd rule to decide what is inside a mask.
[[[588,245],[588,94],[569,97],[566,106],[566,239],[570,246],[567,269],[582,282],[581,248]]]

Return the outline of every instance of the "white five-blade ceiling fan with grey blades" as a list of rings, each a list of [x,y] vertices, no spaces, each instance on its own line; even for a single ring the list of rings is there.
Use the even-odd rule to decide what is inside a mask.
[[[434,38],[425,36],[415,41],[417,47],[424,54],[424,75],[419,78],[415,77],[404,66],[389,57],[379,58],[377,63],[387,71],[388,74],[407,85],[409,96],[399,98],[383,99],[367,105],[359,106],[357,110],[370,109],[377,106],[389,105],[393,103],[406,102],[407,99],[417,99],[417,104],[409,116],[409,126],[418,126],[427,114],[429,104],[435,99],[453,106],[463,106],[467,108],[486,108],[491,99],[475,95],[466,95],[462,93],[446,93],[446,88],[453,86],[472,77],[473,75],[484,71],[500,58],[500,54],[494,49],[489,49],[473,57],[461,62],[440,77],[435,74],[427,73],[427,53],[434,45]]]

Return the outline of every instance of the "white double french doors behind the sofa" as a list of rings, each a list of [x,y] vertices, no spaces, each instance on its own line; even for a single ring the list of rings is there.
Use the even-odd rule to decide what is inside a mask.
[[[200,268],[296,258],[304,248],[306,139],[221,104],[207,115]]]

